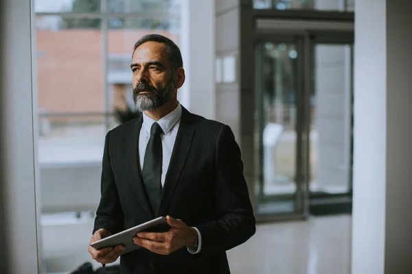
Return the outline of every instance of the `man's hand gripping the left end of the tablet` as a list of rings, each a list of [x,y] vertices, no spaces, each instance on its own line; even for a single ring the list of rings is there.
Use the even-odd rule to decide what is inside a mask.
[[[106,229],[99,229],[91,237],[90,243],[110,235],[111,233]],[[123,245],[117,245],[116,247],[105,247],[104,249],[97,250],[89,245],[89,253],[91,253],[91,258],[97,262],[100,262],[100,264],[110,264],[111,262],[115,262],[124,249],[125,247]]]

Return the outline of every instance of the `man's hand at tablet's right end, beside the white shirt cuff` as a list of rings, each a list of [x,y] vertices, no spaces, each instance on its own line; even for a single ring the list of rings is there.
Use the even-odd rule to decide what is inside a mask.
[[[162,255],[168,255],[182,247],[195,245],[198,236],[195,229],[188,227],[180,219],[173,219],[170,216],[166,216],[166,221],[171,227],[168,232],[139,232],[137,237],[133,237],[133,242]]]

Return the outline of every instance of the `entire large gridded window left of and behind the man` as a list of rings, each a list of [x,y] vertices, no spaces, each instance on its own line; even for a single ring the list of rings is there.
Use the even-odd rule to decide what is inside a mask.
[[[71,273],[92,262],[104,136],[115,108],[133,105],[133,45],[149,33],[179,45],[181,1],[34,0],[34,10],[43,273]]]

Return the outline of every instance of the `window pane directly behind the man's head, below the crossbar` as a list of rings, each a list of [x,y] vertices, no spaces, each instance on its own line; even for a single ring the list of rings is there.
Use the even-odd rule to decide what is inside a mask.
[[[116,23],[115,23],[116,22]],[[134,109],[132,92],[132,60],[135,42],[145,34],[161,34],[179,45],[179,21],[111,19],[108,26],[107,84],[114,109]]]

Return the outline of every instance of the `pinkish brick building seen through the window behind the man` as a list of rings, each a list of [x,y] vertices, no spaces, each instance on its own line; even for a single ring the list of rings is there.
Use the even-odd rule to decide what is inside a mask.
[[[68,119],[67,116],[53,114],[104,114],[113,111],[114,107],[124,108],[126,101],[132,99],[130,62],[133,46],[141,36],[153,32],[108,29],[106,55],[105,37],[100,29],[38,29],[36,66],[39,112],[48,114],[47,119],[53,123]],[[177,34],[155,33],[167,36],[179,45]],[[108,84],[107,110],[105,84]],[[86,116],[83,118],[87,119]],[[89,119],[96,117],[89,116]]]

